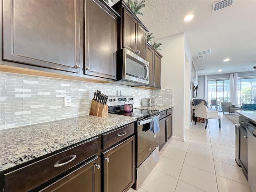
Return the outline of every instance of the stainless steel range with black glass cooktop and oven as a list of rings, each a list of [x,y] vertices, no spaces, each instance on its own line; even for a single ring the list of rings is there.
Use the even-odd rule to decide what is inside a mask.
[[[108,112],[112,114],[136,117],[135,124],[135,184],[134,189],[138,189],[148,174],[154,168],[159,159],[159,132],[153,134],[150,131],[152,117],[158,116],[159,112],[154,110],[134,109],[133,96],[108,96]],[[124,111],[131,107],[131,111]]]

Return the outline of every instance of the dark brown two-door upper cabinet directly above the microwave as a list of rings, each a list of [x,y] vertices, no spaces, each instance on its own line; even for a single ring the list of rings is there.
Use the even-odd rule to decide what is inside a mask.
[[[121,44],[118,48],[128,48],[138,56],[146,59],[148,30],[124,1],[117,2],[112,8],[122,17]]]

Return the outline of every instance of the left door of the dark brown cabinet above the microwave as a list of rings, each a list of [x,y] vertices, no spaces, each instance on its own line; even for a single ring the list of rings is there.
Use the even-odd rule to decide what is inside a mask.
[[[135,52],[137,21],[125,8],[123,14],[123,47],[130,49],[132,52]]]

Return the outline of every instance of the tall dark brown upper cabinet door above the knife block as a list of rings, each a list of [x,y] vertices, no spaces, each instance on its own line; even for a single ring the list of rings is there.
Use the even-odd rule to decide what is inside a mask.
[[[86,3],[84,74],[116,80],[117,17],[98,0]]]

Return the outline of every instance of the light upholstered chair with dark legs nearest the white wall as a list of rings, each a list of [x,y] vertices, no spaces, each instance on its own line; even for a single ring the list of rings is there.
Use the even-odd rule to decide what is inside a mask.
[[[205,101],[202,100],[200,103],[196,101],[196,99],[193,99],[193,104],[195,108],[195,116],[196,116],[196,122],[197,117],[204,118],[205,119],[205,128],[208,125],[208,119],[218,119],[219,120],[219,128],[220,126],[220,118],[221,116],[218,114],[218,111],[208,111],[207,106],[205,105]],[[195,125],[196,125],[195,122]]]

